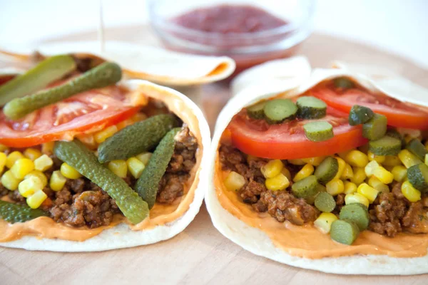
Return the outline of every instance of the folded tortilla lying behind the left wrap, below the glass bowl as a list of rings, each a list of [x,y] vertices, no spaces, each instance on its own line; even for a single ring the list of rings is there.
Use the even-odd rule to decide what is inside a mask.
[[[189,86],[220,81],[235,71],[235,61],[227,56],[195,56],[167,51],[137,43],[106,41],[100,50],[98,41],[46,43],[36,48],[0,46],[0,54],[29,61],[37,51],[42,56],[71,53],[114,61],[128,78],[145,79],[163,85]]]

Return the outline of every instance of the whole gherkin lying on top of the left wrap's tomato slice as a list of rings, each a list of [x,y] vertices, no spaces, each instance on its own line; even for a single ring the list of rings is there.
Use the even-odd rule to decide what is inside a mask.
[[[24,98],[15,98],[4,106],[3,113],[7,118],[16,120],[34,110],[54,104],[72,95],[112,85],[120,81],[121,78],[121,67],[116,63],[106,62],[61,86],[41,90]]]

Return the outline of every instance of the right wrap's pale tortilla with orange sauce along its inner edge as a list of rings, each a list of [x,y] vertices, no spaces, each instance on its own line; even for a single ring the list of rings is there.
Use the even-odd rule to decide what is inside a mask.
[[[227,190],[225,190],[223,179],[220,176],[222,170],[218,150],[223,132],[233,116],[243,108],[253,105],[260,100],[278,96],[292,98],[304,93],[306,90],[312,88],[312,86],[316,86],[321,81],[340,76],[350,77],[373,92],[382,92],[404,102],[428,106],[427,90],[424,90],[424,95],[408,93],[408,91],[414,88],[413,83],[409,85],[407,81],[406,84],[403,83],[404,81],[394,81],[395,86],[399,86],[399,88],[395,88],[393,84],[379,84],[373,78],[370,78],[370,76],[352,72],[350,69],[345,68],[317,69],[312,72],[312,76],[307,81],[301,83],[299,86],[296,87],[292,82],[284,83],[282,90],[276,93],[263,93],[260,92],[260,88],[241,91],[229,101],[220,113],[213,135],[210,150],[209,185],[205,194],[205,203],[213,224],[225,237],[253,254],[304,269],[314,269],[335,274],[410,275],[428,273],[427,254],[423,257],[389,257],[385,254],[345,254],[345,256],[335,257],[333,250],[326,249],[322,254],[325,256],[323,258],[310,259],[303,257],[305,252],[310,252],[312,249],[296,248],[295,243],[291,239],[284,240],[281,237],[275,237],[275,234],[272,234],[272,232],[268,233],[264,231],[262,222],[259,219],[254,219],[254,216],[250,215],[246,210],[234,206],[235,203],[241,201],[234,201],[234,199],[229,199],[228,195],[225,195],[225,191]],[[389,79],[389,81],[391,80]],[[404,91],[406,92],[405,96],[402,95]],[[280,224],[270,216],[263,217],[262,219],[272,219],[272,223]],[[266,223],[268,224],[269,222]],[[284,227],[286,226],[284,225]],[[320,235],[322,233],[315,230],[312,231],[312,234],[297,235],[295,239],[316,241],[317,238],[322,237]],[[424,234],[422,238],[428,240],[428,235]],[[385,237],[385,239],[390,238]],[[335,244],[331,244],[331,246],[335,247]],[[418,249],[424,251],[427,249],[427,243],[420,244]]]

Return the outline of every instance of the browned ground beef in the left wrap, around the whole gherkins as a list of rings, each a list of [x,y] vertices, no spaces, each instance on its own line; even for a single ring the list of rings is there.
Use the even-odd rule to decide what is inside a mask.
[[[175,150],[168,168],[159,184],[157,202],[171,204],[176,198],[184,194],[184,185],[190,177],[190,171],[195,166],[195,153],[198,142],[190,134],[188,128],[183,128],[175,137]],[[46,177],[51,177],[54,170],[61,167],[61,161],[55,155],[50,155],[54,160],[54,167],[45,172]],[[134,177],[125,179],[130,187],[136,183]],[[114,214],[121,214],[120,209],[113,199],[100,187],[85,177],[76,180],[67,180],[61,191],[54,192],[49,187],[44,188],[49,199],[41,205],[41,209],[49,212],[50,217],[56,222],[63,222],[73,227],[108,226],[113,221]],[[13,202],[26,204],[18,190],[9,191],[0,184],[0,197],[8,196]]]

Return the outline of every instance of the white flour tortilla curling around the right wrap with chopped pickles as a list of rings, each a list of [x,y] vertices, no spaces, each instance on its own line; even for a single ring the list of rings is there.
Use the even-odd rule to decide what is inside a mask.
[[[335,274],[411,275],[428,273],[427,254],[423,257],[414,258],[397,258],[374,254],[325,257],[322,259],[307,259],[293,256],[289,252],[277,247],[263,229],[260,229],[259,227],[251,227],[249,224],[243,222],[243,220],[238,219],[236,215],[229,212],[222,206],[222,204],[220,204],[220,199],[216,190],[220,189],[220,191],[223,191],[220,188],[222,180],[215,179],[216,173],[220,172],[220,166],[218,166],[218,147],[220,145],[220,138],[223,131],[230,123],[233,115],[238,113],[242,108],[253,105],[262,99],[272,98],[278,95],[284,98],[292,98],[304,93],[306,90],[317,85],[317,83],[320,83],[321,81],[339,76],[348,76],[353,78],[368,90],[384,92],[385,94],[399,100],[405,99],[408,102],[428,106],[428,97],[423,98],[413,95],[411,98],[403,98],[403,96],[400,95],[400,92],[402,89],[407,90],[407,86],[399,84],[401,87],[400,89],[388,89],[384,86],[378,86],[375,81],[365,75],[352,73],[347,69],[317,69],[312,73],[309,80],[302,83],[300,86],[295,87],[292,83],[290,83],[289,86],[284,85],[282,93],[260,93],[260,89],[258,89],[257,92],[253,92],[253,90],[248,89],[243,90],[232,98],[221,111],[213,136],[212,147],[210,150],[210,172],[208,177],[210,184],[208,185],[208,190],[205,194],[205,203],[207,204],[208,212],[210,213],[213,224],[225,237],[253,254],[304,269],[314,269]],[[223,195],[223,197],[224,196],[225,195]],[[233,207],[233,211],[237,210],[239,211],[238,208],[235,209]],[[241,212],[240,214],[243,213]],[[273,219],[272,217],[268,218]],[[273,220],[272,222],[277,221]],[[308,239],[311,238],[308,237]]]

